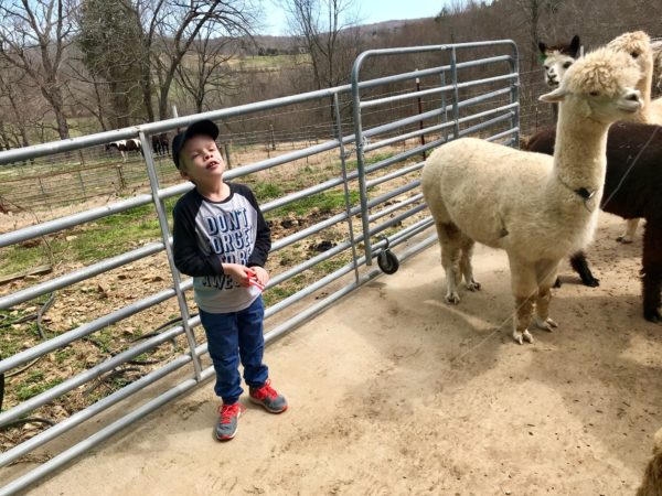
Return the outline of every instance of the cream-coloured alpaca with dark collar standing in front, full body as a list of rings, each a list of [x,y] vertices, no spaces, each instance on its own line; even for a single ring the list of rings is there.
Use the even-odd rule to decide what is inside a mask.
[[[474,138],[439,147],[423,170],[446,271],[449,303],[457,284],[477,290],[474,241],[503,248],[515,296],[514,339],[533,342],[528,324],[551,331],[549,288],[559,261],[586,246],[597,223],[605,183],[607,130],[639,111],[634,85],[641,77],[631,57],[600,48],[578,60],[560,86],[543,95],[560,103],[554,157],[523,152]]]

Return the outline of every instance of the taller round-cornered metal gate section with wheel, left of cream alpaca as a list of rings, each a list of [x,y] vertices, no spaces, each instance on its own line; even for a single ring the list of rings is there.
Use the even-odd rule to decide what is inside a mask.
[[[510,53],[506,55],[480,57],[480,52],[485,48],[488,53],[493,52],[495,47],[504,48]],[[398,74],[392,77],[360,82],[360,74],[365,61],[370,57],[380,57],[382,63],[387,63],[388,58],[396,56],[412,56],[416,54],[435,54],[439,60],[446,57],[448,64],[437,67],[430,67],[423,71],[415,71],[407,74]],[[473,58],[477,57],[478,58]],[[459,54],[465,55],[463,61],[459,60]],[[505,68],[505,71],[504,71]],[[470,71],[474,69],[473,73]],[[467,76],[468,74],[468,76]],[[462,77],[465,76],[465,77]],[[478,77],[478,78],[473,78]],[[398,95],[386,97],[363,97],[369,89],[373,93],[381,86],[405,82],[416,80],[416,90],[401,93]],[[420,90],[420,79],[429,80],[425,89]],[[403,161],[410,157],[421,155],[423,161],[413,166],[403,169],[397,174],[410,174],[423,169],[426,151],[452,140],[456,137],[478,134],[490,141],[504,140],[504,144],[519,147],[520,138],[520,104],[519,104],[519,64],[517,48],[512,41],[494,41],[479,43],[459,43],[452,45],[433,45],[414,46],[406,48],[372,50],[362,53],[354,63],[352,69],[352,97],[354,112],[354,133],[356,137],[356,159],[359,162],[359,185],[361,188],[361,217],[363,225],[363,236],[365,238],[365,257],[370,266],[374,249],[380,245],[371,244],[371,235],[380,233],[381,228],[371,228],[371,224],[381,217],[380,214],[371,215],[371,208],[378,205],[380,202],[369,200],[369,187],[378,184],[384,179],[376,177],[369,181],[369,174],[373,174],[386,165],[396,161]],[[428,96],[439,96],[437,108],[423,111],[420,99]],[[362,122],[362,111],[367,108],[386,106],[403,100],[416,99],[419,103],[420,112],[409,118],[395,120],[387,125],[364,129]],[[488,110],[480,111],[481,104],[489,103]],[[479,109],[477,111],[477,109]],[[451,118],[449,118],[449,112]],[[431,122],[430,122],[431,121]],[[425,123],[424,123],[425,122]],[[387,134],[389,132],[401,132],[407,129],[412,123],[418,125],[419,129],[404,132],[381,139],[373,143],[371,139]],[[496,129],[496,131],[495,131]],[[428,137],[428,142],[425,138]],[[398,141],[405,141],[412,138],[420,138],[420,144],[384,162],[377,162],[366,166],[366,154],[377,150],[386,144]],[[431,140],[430,140],[431,138]],[[373,174],[374,175],[374,174]],[[392,176],[388,176],[392,177]],[[419,180],[412,181],[402,191],[413,191],[420,185]],[[423,193],[415,195],[414,202],[423,198]],[[409,214],[425,208],[425,205],[418,205],[410,209]]]

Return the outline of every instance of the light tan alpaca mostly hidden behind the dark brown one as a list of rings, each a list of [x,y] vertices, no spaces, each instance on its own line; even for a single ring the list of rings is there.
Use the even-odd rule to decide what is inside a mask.
[[[651,39],[649,35],[643,31],[623,33],[610,41],[607,46],[609,48],[629,54],[637,62],[642,74],[641,79],[637,84],[637,89],[639,89],[641,93],[643,108],[641,111],[631,117],[630,120],[641,123],[662,126],[662,105],[660,108],[655,108],[651,101],[654,60]],[[634,233],[637,231],[638,226],[638,218],[627,219],[626,231],[616,238],[617,241],[623,244],[632,242],[634,240]]]

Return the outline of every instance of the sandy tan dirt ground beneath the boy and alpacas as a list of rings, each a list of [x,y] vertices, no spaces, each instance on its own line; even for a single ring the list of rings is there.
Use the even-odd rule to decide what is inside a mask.
[[[218,443],[207,382],[31,494],[632,495],[662,425],[662,326],[621,225],[604,215],[589,252],[599,288],[564,267],[559,328],[532,345],[511,338],[504,254],[479,247],[483,290],[448,306],[434,246],[267,348],[286,413],[246,401]]]

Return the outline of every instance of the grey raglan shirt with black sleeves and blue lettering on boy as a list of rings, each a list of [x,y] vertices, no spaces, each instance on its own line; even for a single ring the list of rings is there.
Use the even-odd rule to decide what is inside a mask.
[[[259,295],[223,273],[221,263],[264,267],[271,248],[270,230],[250,188],[227,183],[229,196],[212,202],[197,190],[182,196],[172,213],[174,265],[193,276],[194,299],[205,312],[243,310]]]

